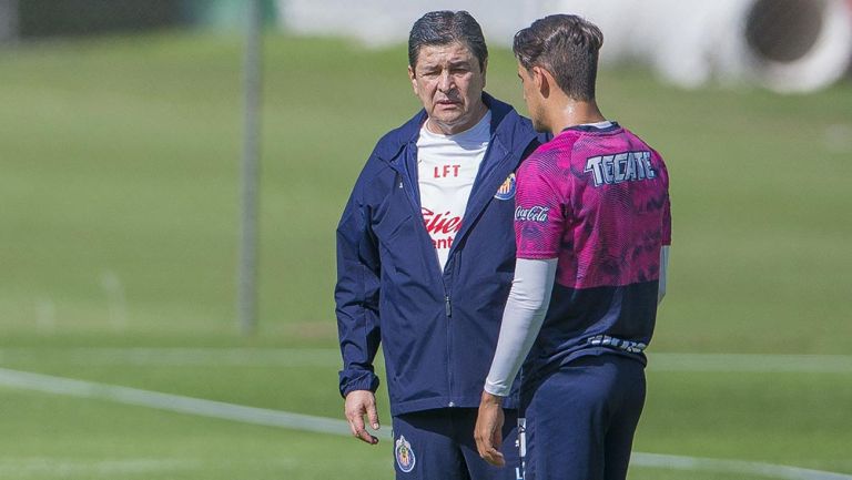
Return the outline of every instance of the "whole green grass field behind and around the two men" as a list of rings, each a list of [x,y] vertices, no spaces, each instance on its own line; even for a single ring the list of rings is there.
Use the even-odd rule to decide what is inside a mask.
[[[237,38],[168,33],[0,50],[0,367],[339,417],[333,232],[375,141],[417,108],[405,51],[267,38],[251,338],[234,320],[240,54]],[[523,112],[517,83],[493,51],[487,90]],[[636,450],[852,476],[852,84],[680,91],[627,69],[598,92],[672,178]],[[666,354],[753,357],[655,367]],[[0,411],[2,479],[393,478],[387,441],[2,386]]]

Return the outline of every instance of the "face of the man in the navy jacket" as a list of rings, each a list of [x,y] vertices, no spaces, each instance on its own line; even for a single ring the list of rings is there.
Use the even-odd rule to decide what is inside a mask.
[[[408,76],[429,115],[427,127],[436,133],[464,132],[485,113],[485,69],[464,43],[420,48]]]

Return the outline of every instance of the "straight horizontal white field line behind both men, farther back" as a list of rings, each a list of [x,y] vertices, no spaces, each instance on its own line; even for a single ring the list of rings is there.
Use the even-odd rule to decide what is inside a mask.
[[[852,374],[852,355],[648,354],[649,371]],[[339,367],[334,348],[2,348],[0,364]]]

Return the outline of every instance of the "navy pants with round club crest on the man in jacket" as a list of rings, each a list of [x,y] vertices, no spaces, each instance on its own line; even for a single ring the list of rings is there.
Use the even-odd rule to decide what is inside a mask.
[[[517,411],[504,412],[504,468],[488,464],[476,450],[476,408],[443,408],[394,417],[397,480],[518,480]]]

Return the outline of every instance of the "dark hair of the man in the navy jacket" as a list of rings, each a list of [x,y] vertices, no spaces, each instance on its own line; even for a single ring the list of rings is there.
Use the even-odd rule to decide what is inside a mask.
[[[488,47],[485,45],[483,29],[470,13],[464,10],[428,12],[414,22],[408,34],[408,64],[412,68],[417,65],[417,57],[423,47],[448,45],[455,42],[466,44],[479,61],[479,70],[485,71]]]

